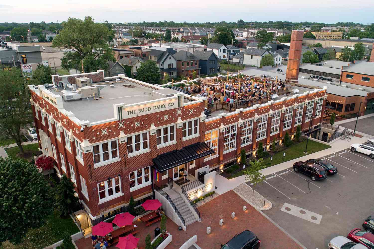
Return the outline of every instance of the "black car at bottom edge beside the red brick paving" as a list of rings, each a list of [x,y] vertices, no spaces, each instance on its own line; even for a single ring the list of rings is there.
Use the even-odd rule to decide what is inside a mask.
[[[258,249],[260,248],[260,240],[249,230],[236,234],[225,245],[221,245],[221,249]]]

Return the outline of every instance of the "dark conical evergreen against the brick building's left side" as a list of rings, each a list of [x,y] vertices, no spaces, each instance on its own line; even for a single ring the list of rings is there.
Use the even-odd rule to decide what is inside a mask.
[[[74,183],[64,174],[57,186],[57,208],[60,216],[68,216],[79,198],[75,196]]]

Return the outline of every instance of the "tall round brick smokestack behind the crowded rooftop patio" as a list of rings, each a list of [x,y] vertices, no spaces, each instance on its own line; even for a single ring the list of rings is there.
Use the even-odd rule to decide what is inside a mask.
[[[286,80],[297,83],[300,69],[301,47],[304,30],[295,29],[291,33],[291,44],[288,52]]]

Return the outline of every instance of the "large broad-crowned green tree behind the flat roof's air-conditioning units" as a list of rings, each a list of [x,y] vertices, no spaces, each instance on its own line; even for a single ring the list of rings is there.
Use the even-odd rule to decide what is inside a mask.
[[[70,49],[64,53],[61,66],[66,70],[81,68],[85,72],[95,72],[98,69],[107,70],[108,60],[115,62],[114,52],[106,43],[111,31],[104,24],[95,23],[91,16],[82,21],[69,18],[62,22],[63,29],[53,39],[52,47]]]

